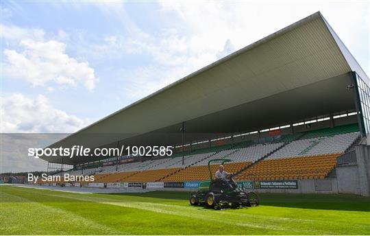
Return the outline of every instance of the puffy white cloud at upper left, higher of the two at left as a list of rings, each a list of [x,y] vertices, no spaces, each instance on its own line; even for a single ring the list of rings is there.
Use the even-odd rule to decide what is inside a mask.
[[[62,86],[84,85],[89,91],[95,88],[97,78],[88,62],[78,62],[65,53],[64,43],[56,40],[40,42],[21,40],[23,51],[5,49],[4,73],[12,78],[24,79],[34,86],[52,82]]]

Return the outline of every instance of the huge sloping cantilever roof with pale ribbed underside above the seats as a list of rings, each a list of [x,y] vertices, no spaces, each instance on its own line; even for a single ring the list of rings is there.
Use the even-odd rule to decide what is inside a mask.
[[[369,78],[320,12],[258,40],[49,147],[181,143],[187,133],[269,128],[354,110],[351,71]],[[195,140],[194,137],[189,137]],[[62,158],[42,157],[61,163]],[[64,158],[65,164],[95,161]]]

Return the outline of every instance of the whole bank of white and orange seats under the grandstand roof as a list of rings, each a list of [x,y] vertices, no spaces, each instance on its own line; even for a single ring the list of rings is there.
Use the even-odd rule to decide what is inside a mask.
[[[283,180],[325,178],[359,137],[357,124],[284,134],[271,143],[244,141],[179,152],[171,157],[84,169],[95,182],[182,182],[209,178],[208,161],[230,159],[225,171],[237,180]],[[182,155],[184,154],[184,164]],[[220,161],[221,163],[221,161]],[[212,173],[218,164],[212,163]],[[100,173],[99,173],[100,172]],[[71,175],[81,170],[70,170]]]

